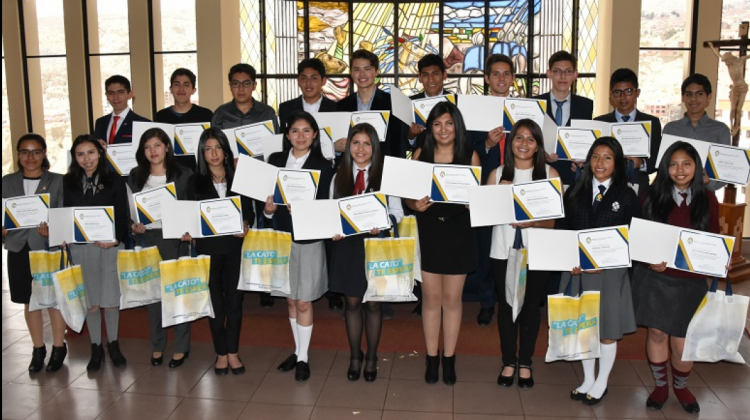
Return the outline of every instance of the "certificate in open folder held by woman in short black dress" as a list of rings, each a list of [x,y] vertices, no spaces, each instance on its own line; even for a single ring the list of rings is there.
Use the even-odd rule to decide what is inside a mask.
[[[464,165],[433,165],[432,201],[469,204],[469,187],[481,184],[482,168]]]

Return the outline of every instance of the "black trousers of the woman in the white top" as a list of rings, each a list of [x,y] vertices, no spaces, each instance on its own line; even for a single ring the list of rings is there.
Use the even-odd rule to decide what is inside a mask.
[[[497,330],[500,333],[500,351],[504,365],[531,366],[536,339],[541,323],[540,302],[547,296],[548,271],[528,271],[526,297],[521,312],[513,322],[513,308],[505,301],[505,270],[508,260],[492,259],[492,274],[498,298]]]

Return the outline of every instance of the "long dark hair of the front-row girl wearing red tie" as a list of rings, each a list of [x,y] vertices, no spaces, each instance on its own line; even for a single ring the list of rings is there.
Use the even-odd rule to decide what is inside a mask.
[[[370,138],[372,143],[372,159],[370,160],[370,170],[367,171],[367,187],[370,191],[380,190],[380,181],[383,178],[383,155],[380,152],[380,139],[375,128],[368,123],[357,124],[349,130],[349,136],[346,139],[346,150],[342,156],[339,169],[336,171],[336,182],[333,186],[333,198],[343,198],[352,195],[354,191],[354,159],[351,154],[351,144],[354,136],[365,134]]]

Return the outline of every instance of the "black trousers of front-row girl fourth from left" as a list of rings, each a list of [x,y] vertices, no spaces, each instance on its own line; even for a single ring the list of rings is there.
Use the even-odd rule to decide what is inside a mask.
[[[240,281],[242,254],[239,250],[231,254],[211,255],[211,273],[208,290],[214,318],[208,319],[216,354],[225,356],[237,353],[240,348],[242,328],[242,299],[245,292],[237,290]]]

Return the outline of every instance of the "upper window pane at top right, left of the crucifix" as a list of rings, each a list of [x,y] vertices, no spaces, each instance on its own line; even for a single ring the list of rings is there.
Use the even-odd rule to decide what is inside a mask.
[[[689,48],[687,3],[687,0],[642,2],[641,47]]]

